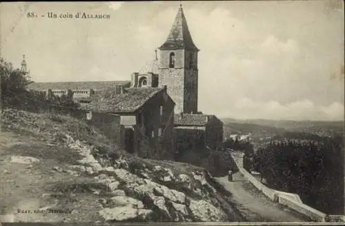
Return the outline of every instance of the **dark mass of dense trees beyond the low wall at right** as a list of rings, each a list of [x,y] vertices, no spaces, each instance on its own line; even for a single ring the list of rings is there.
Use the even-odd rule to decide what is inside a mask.
[[[259,148],[254,166],[268,186],[297,193],[326,214],[344,212],[344,141],[342,137],[306,136],[302,141],[272,141]]]

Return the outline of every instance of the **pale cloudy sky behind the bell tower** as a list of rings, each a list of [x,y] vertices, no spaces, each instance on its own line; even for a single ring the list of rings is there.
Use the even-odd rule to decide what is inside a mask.
[[[344,121],[341,0],[182,5],[200,49],[199,111],[220,118]],[[155,59],[178,8],[179,1],[0,3],[0,54],[17,67],[25,54],[35,82],[130,80]],[[48,12],[110,19],[50,19]]]

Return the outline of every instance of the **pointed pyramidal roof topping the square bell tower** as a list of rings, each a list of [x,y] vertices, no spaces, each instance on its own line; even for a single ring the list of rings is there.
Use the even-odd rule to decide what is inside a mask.
[[[179,8],[175,17],[174,23],[168,35],[166,42],[161,45],[160,50],[198,50],[193,43],[192,36],[190,35],[186,17],[184,17],[184,10],[182,7]]]

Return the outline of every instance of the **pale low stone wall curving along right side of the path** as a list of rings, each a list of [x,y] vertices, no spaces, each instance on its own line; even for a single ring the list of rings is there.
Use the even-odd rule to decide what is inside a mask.
[[[239,172],[244,175],[244,177],[250,181],[259,191],[261,191],[265,196],[270,198],[270,200],[275,201],[277,203],[281,203],[282,205],[288,206],[290,209],[299,212],[300,214],[304,214],[308,216],[312,220],[317,222],[329,222],[329,221],[341,221],[345,222],[345,216],[343,215],[327,215],[323,212],[320,212],[313,207],[305,205],[298,194],[288,193],[288,192],[280,192],[275,189],[271,189],[266,185],[262,184],[260,181],[257,180],[252,174],[246,171],[243,167],[243,156],[244,153],[239,151],[232,151],[231,157],[235,161],[237,167],[239,168]]]

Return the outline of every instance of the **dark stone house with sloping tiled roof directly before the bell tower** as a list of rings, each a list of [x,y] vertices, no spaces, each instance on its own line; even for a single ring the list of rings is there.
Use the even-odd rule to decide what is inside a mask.
[[[128,152],[172,159],[174,107],[164,87],[128,88],[121,94],[113,89],[105,90],[82,109],[119,115],[124,128],[121,145]]]

